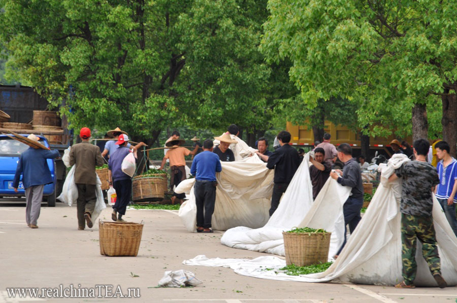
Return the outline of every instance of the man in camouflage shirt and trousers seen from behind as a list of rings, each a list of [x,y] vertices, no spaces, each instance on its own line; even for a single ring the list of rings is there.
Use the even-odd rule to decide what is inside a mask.
[[[414,288],[417,263],[415,259],[417,238],[422,243],[422,255],[429,264],[430,272],[440,288],[447,286],[441,276],[440,257],[433,226],[432,191],[439,183],[436,168],[427,162],[430,143],[426,139],[414,142],[416,160],[404,163],[390,181],[402,179],[402,199],[400,203],[402,233],[402,276],[404,281],[397,288]]]

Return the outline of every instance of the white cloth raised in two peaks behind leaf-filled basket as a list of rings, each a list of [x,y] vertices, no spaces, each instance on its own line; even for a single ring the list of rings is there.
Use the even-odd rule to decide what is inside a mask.
[[[313,203],[309,175],[309,153],[290,181],[278,208],[268,223],[252,230],[245,226],[224,233],[221,243],[234,248],[284,255],[283,231],[293,227],[325,229],[332,233],[329,259],[343,244],[343,204],[349,197],[350,187],[342,186],[329,177]]]

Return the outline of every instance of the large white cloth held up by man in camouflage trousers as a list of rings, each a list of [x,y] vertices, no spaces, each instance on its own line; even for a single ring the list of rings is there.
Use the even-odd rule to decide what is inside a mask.
[[[385,168],[394,172],[395,166],[399,166],[405,161],[407,160],[394,159],[393,161],[389,161]],[[384,177],[387,176],[386,172],[384,174],[381,173],[381,175]],[[325,186],[328,185],[329,182],[325,184]],[[285,261],[274,256],[247,260],[208,259],[200,255],[183,263],[188,265],[230,267],[240,275],[263,279],[302,282],[328,282],[333,280],[334,282],[351,282],[356,284],[395,285],[403,280],[400,193],[401,179],[384,183],[384,185],[378,187],[367,212],[357,225],[357,228],[349,238],[338,259],[327,271],[322,273],[303,276],[276,274],[274,273],[275,270],[285,266]],[[321,206],[322,208],[327,208],[327,210],[322,211],[324,214],[327,211],[330,212],[332,207],[338,205],[338,203],[331,203],[331,201],[338,200],[338,197],[328,196],[327,193],[322,195],[324,196],[322,197],[324,201],[329,201],[328,204],[322,204]],[[316,202],[317,200],[316,198]],[[441,206],[435,197],[432,215],[441,258],[441,272],[448,285],[455,285],[457,284],[457,272],[455,270],[457,268],[457,238],[453,234]],[[309,214],[306,215],[306,217],[308,216]],[[292,220],[293,218],[289,219]],[[324,220],[325,218],[322,217],[321,219]],[[303,225],[300,224],[300,226]],[[229,232],[231,231],[227,231],[225,234]],[[416,286],[435,287],[437,284],[430,274],[427,262],[422,257],[421,244],[419,241],[417,242],[417,276],[414,284]],[[266,268],[274,270],[265,271]]]

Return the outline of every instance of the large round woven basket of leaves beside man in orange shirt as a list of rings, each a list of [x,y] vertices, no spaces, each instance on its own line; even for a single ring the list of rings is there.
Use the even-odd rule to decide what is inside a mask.
[[[153,174],[148,177],[135,176],[132,180],[133,201],[161,201],[167,192],[167,174]]]

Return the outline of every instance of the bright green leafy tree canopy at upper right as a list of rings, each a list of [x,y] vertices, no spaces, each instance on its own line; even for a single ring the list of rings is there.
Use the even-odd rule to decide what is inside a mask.
[[[438,119],[439,97],[455,94],[456,2],[270,0],[268,9],[268,60],[292,61],[290,79],[311,106],[356,101],[358,122],[374,135],[409,133],[414,103]]]

